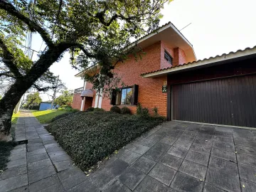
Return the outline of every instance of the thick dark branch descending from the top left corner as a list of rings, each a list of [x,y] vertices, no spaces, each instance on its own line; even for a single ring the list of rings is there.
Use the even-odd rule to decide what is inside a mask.
[[[48,47],[53,46],[53,41],[51,40],[49,34],[43,28],[41,28],[41,26],[39,26],[38,23],[31,21],[30,18],[21,14],[21,12],[18,11],[11,3],[8,3],[4,0],[0,0],[0,9],[4,9],[5,11],[7,11],[8,14],[11,14],[11,16],[14,16],[23,21],[24,23],[26,23],[28,25],[28,28],[32,32],[37,31],[43,38],[43,41],[46,42],[46,45]]]

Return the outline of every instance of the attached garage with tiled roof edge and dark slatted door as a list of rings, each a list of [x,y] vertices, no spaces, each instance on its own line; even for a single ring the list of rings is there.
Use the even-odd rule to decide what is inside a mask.
[[[167,78],[169,121],[256,128],[256,46],[142,74]]]

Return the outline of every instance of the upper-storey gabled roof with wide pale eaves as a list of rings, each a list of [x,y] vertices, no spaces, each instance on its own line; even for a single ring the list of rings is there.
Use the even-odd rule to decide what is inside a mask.
[[[137,43],[137,46],[140,48],[146,48],[147,46],[151,46],[152,44],[159,42],[159,41],[166,41],[174,48],[179,47],[186,53],[186,58],[188,61],[196,60],[196,54],[193,50],[192,44],[183,36],[183,34],[178,31],[176,26],[173,23],[168,22],[165,23],[163,26],[159,26],[156,28],[155,31],[146,34],[142,38],[139,38],[136,42],[131,43],[130,47],[134,46]],[[90,73],[92,68],[98,69],[98,65],[92,65],[89,68],[86,68],[82,72],[75,75],[75,77],[80,77],[85,73]]]

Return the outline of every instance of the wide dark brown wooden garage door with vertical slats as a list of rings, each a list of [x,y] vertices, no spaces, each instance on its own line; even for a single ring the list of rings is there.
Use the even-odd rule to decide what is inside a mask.
[[[172,86],[173,119],[256,127],[256,75]]]

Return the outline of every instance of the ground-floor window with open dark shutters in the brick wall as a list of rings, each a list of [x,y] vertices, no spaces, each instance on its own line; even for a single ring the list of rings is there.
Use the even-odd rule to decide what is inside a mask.
[[[112,90],[111,105],[137,105],[138,85]]]

